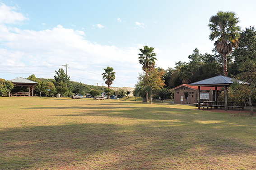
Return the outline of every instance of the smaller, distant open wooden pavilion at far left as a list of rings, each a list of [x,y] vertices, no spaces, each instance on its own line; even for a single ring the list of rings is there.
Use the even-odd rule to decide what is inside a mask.
[[[34,96],[34,85],[37,84],[35,81],[31,81],[28,79],[24,79],[22,77],[19,77],[17,79],[11,80],[11,82],[14,84],[14,86],[22,86],[22,87],[29,87],[29,92],[16,92],[11,93],[11,96],[31,96],[31,88],[32,88],[32,97]]]

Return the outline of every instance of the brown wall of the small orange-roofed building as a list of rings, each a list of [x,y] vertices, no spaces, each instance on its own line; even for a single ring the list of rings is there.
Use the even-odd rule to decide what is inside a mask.
[[[188,96],[187,100],[185,99],[185,95],[183,93],[184,91],[189,92],[189,94],[188,94],[189,96]],[[181,96],[183,96],[183,101],[181,101]],[[196,100],[196,90],[195,89],[187,88],[186,86],[181,86],[181,87],[175,89],[175,93],[174,93],[174,103],[175,104],[185,104],[186,101],[188,103],[193,104],[193,103],[196,103],[195,100]]]

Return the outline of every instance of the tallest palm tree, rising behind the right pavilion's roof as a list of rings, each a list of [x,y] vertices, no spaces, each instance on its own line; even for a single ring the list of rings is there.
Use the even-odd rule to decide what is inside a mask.
[[[222,54],[223,58],[223,75],[228,76],[227,71],[227,55],[232,52],[233,48],[238,47],[238,38],[240,37],[239,22],[234,12],[219,11],[217,15],[211,16],[208,26],[211,33],[210,40],[217,39],[214,43],[216,50]]]

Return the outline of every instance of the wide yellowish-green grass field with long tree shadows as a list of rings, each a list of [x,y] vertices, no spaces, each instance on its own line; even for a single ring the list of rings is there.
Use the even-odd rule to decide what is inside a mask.
[[[1,97],[0,170],[256,169],[249,113],[131,100]]]

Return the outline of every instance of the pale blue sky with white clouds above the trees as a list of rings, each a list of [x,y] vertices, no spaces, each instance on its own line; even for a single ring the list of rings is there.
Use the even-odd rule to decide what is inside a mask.
[[[221,4],[221,5],[220,5]],[[175,67],[195,48],[211,54],[209,18],[234,11],[239,26],[256,26],[254,0],[0,0],[0,78],[53,78],[59,67],[72,81],[134,87],[139,49],[155,48],[158,67]]]

